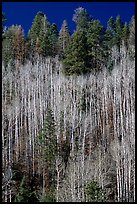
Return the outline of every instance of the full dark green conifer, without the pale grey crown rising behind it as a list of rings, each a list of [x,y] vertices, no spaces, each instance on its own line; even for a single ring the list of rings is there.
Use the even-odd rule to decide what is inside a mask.
[[[64,73],[66,75],[82,74],[89,71],[87,37],[84,32],[76,31],[72,42],[64,55]]]

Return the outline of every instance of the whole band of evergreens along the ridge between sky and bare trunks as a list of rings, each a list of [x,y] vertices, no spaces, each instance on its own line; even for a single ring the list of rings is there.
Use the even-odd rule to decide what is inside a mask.
[[[2,13],[2,26],[5,15]],[[5,66],[10,63],[15,67],[15,60],[25,62],[29,59],[35,61],[35,56],[55,57],[59,55],[64,65],[65,75],[80,75],[89,72],[96,73],[102,67],[112,69],[111,51],[113,46],[120,46],[124,42],[127,47],[135,45],[135,18],[130,25],[123,24],[120,16],[116,20],[111,17],[107,29],[94,20],[86,9],[79,7],[75,10],[73,21],[76,31],[70,36],[66,20],[63,21],[60,32],[55,23],[50,23],[43,12],[38,12],[24,39],[23,29],[12,26],[3,34],[2,58]],[[134,53],[128,49],[131,56]]]

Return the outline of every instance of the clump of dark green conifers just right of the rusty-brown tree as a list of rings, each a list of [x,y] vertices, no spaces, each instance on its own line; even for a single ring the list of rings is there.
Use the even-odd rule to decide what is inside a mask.
[[[28,33],[28,45],[32,53],[55,56],[57,53],[58,30],[55,23],[50,26],[47,17],[38,12]]]

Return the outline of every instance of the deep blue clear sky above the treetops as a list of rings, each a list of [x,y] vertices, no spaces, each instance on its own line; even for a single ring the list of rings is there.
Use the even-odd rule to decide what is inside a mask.
[[[2,11],[5,13],[6,26],[21,25],[27,35],[32,21],[38,11],[42,11],[48,17],[50,23],[56,23],[60,30],[64,19],[67,20],[71,33],[75,30],[72,21],[74,10],[79,6],[87,9],[94,19],[99,19],[106,27],[108,19],[117,15],[123,22],[129,22],[135,15],[134,2],[3,2]]]

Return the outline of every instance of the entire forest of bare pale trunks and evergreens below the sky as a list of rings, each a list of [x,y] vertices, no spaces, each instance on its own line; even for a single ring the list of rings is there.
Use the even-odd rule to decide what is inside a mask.
[[[3,202],[135,202],[135,17],[72,20],[2,13]]]

